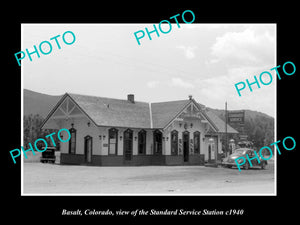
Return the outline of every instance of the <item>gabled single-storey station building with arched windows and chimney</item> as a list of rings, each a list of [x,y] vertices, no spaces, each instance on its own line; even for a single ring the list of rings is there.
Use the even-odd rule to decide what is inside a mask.
[[[145,103],[133,95],[119,100],[66,93],[42,125],[61,128],[71,134],[61,143],[61,164],[204,165],[222,152],[225,124],[191,96]]]

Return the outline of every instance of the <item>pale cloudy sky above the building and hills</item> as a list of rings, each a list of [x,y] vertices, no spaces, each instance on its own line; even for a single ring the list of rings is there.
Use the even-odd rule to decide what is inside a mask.
[[[180,22],[180,21],[179,21]],[[134,33],[153,24],[22,24],[21,50],[29,52],[43,41],[52,44],[21,61],[23,88],[62,95],[66,92],[164,102],[189,95],[210,108],[250,109],[275,117],[276,24],[172,23],[168,34],[147,34],[138,45]],[[158,26],[156,24],[156,26]],[[164,26],[168,26],[164,24]],[[162,26],[163,30],[168,27]],[[66,45],[62,35],[75,34]],[[57,38],[61,49],[57,48]],[[66,35],[66,41],[72,41]],[[47,44],[43,50],[47,52]],[[17,62],[16,62],[17,63]],[[239,96],[235,84],[254,81],[263,71],[273,75],[270,85],[252,85]],[[262,77],[264,82],[270,78]]]

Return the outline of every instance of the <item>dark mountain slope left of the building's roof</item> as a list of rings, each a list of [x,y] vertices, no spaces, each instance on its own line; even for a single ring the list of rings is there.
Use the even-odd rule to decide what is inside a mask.
[[[24,116],[39,114],[42,118],[46,118],[62,95],[47,95],[24,89],[23,97]]]

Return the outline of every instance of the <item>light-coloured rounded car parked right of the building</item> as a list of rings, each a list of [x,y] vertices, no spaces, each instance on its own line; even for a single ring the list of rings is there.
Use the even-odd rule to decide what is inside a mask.
[[[246,162],[245,162],[245,164],[241,165],[241,167],[243,167],[245,170],[247,170],[247,169],[249,169],[250,164],[248,162],[246,154],[248,154],[249,158],[251,159],[251,158],[255,157],[254,152],[255,152],[255,150],[250,149],[250,148],[238,148],[234,151],[233,154],[231,154],[228,157],[225,157],[223,159],[222,165],[227,168],[231,168],[232,166],[237,166],[235,159],[243,156],[243,157],[245,157]],[[251,160],[252,167],[260,167],[261,169],[265,169],[266,165],[268,164],[267,161],[263,160],[259,154],[257,154],[257,155],[258,155],[260,163],[258,163],[257,159],[253,159],[253,160]],[[243,161],[243,159],[240,159],[239,163],[241,163],[242,161]]]

